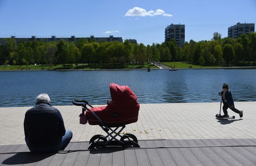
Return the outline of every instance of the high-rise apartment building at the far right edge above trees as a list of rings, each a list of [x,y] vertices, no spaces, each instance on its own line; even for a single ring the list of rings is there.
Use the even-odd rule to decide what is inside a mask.
[[[235,26],[230,26],[228,29],[229,38],[238,38],[243,33],[249,34],[255,31],[255,24],[237,23]]]

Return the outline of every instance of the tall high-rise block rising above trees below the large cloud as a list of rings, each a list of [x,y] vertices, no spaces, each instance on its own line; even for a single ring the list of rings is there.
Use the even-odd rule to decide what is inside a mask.
[[[183,46],[185,44],[185,25],[171,24],[165,28],[165,41],[175,39],[176,44]]]

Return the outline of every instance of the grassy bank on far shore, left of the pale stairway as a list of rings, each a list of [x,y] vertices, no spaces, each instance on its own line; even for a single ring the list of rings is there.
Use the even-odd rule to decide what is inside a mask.
[[[153,64],[128,64],[126,67],[123,65],[108,65],[108,64],[91,64],[90,68],[88,64],[78,64],[63,67],[63,65],[50,65],[50,64],[38,64],[38,65],[0,65],[0,70],[90,70],[90,69],[146,69],[147,67],[150,68],[157,68]]]

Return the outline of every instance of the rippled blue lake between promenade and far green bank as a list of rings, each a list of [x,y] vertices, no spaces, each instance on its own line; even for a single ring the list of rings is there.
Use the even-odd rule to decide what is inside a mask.
[[[0,71],[0,107],[33,106],[40,93],[52,105],[110,100],[109,83],[128,85],[139,103],[220,102],[228,83],[235,101],[256,101],[256,69]]]

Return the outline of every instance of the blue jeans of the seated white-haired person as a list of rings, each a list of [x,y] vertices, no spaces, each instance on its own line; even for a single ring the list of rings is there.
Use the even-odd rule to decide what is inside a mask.
[[[27,147],[29,148],[30,152],[33,153],[51,153],[51,152],[57,152],[59,150],[64,150],[70,140],[72,139],[72,132],[70,130],[66,130],[65,135],[62,137],[62,139],[56,144],[48,147],[33,147],[30,146],[28,139],[25,137],[25,141],[27,144]]]

